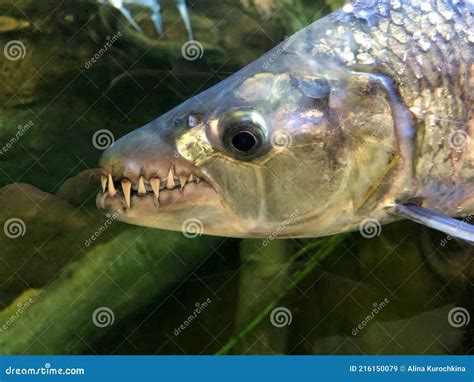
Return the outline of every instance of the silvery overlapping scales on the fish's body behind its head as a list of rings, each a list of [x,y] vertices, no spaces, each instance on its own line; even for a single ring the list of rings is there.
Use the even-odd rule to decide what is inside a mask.
[[[473,182],[472,171],[464,171],[454,163],[445,164],[451,152],[447,142],[450,132],[460,129],[460,124],[461,129],[467,130],[467,121],[472,119],[472,99],[466,97],[468,79],[473,76],[473,44],[468,38],[474,28],[472,9],[462,1],[378,1],[368,15],[371,3],[354,1],[330,16],[334,30],[345,36],[340,40],[340,51],[353,51],[353,41],[370,42],[365,46],[357,44],[354,61],[334,50],[334,40],[324,50],[332,50],[349,67],[364,67],[364,61],[357,60],[363,54],[376,62],[380,73],[398,84],[403,102],[417,117],[416,172],[424,182],[432,182],[433,178],[454,182],[459,176]],[[431,11],[426,13],[423,9]],[[361,22],[367,18],[369,22]],[[317,41],[317,23],[315,27],[309,27],[311,38],[307,41]],[[323,50],[321,43],[316,47],[309,43],[306,49]],[[472,161],[466,161],[465,166],[471,170]]]

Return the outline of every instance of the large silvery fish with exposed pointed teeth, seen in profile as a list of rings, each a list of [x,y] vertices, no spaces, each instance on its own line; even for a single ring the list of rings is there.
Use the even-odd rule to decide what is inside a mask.
[[[474,241],[473,20],[472,1],[347,3],[117,140],[97,205],[229,237],[408,218]]]

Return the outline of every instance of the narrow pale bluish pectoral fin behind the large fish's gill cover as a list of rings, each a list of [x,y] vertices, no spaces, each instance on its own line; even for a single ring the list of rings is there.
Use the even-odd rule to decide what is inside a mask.
[[[474,225],[472,224],[412,204],[397,204],[395,212],[404,218],[444,232],[452,237],[474,243]]]

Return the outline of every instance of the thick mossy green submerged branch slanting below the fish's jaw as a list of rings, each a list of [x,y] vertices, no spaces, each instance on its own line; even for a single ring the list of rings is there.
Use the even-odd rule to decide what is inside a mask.
[[[220,239],[129,229],[71,263],[0,336],[0,354],[80,354],[184,279]],[[11,309],[0,313],[9,322]]]

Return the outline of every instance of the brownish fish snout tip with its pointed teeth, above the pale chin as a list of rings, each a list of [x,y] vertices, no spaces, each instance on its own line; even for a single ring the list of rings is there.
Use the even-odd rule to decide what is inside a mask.
[[[102,209],[130,210],[142,202],[169,207],[206,183],[203,174],[174,149],[173,141],[153,125],[116,141],[104,152],[100,166],[102,193],[97,203]]]

